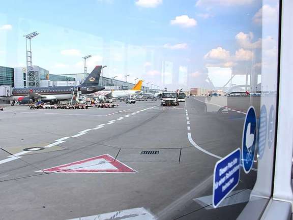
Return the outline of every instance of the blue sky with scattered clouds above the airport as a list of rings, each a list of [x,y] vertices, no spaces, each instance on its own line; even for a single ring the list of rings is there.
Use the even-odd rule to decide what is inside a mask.
[[[92,0],[5,1],[0,8],[0,66],[25,66],[25,38],[33,65],[52,74],[106,65],[103,75],[143,79],[168,89],[245,84],[260,73],[261,45],[274,53],[271,24],[275,0]],[[271,20],[270,20],[271,19]],[[258,78],[258,83],[261,77]],[[148,84],[147,84],[148,83]]]

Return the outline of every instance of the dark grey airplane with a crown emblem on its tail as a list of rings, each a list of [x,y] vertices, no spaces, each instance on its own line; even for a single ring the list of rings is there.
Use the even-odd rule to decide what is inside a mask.
[[[100,80],[102,66],[96,66],[85,81],[78,86],[52,86],[35,88],[14,88],[12,97],[0,97],[5,101],[18,101],[19,104],[27,104],[35,101],[50,102],[69,100],[72,97],[72,91],[80,90],[82,94],[89,94],[104,89],[104,86],[98,85]]]

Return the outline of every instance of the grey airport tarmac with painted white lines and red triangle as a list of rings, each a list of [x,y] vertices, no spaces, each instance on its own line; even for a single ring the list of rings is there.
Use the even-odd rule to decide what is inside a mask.
[[[215,163],[241,147],[260,98],[187,98],[0,112],[0,219],[236,219],[257,164],[212,208]],[[151,151],[151,152],[142,152]],[[145,154],[143,154],[145,153]],[[154,154],[148,154],[154,153]],[[61,166],[64,165],[64,166]],[[81,218],[92,216],[88,218]]]

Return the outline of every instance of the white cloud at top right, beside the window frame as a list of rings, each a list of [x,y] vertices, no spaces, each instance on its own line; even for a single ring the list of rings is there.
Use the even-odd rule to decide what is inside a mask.
[[[278,21],[277,7],[272,7],[270,5],[263,5],[262,8],[260,8],[255,13],[252,20],[256,24],[261,24],[262,22],[272,23],[272,22]]]

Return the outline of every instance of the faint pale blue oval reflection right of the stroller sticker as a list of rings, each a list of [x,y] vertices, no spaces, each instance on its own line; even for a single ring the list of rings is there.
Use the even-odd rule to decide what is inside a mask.
[[[268,129],[268,119],[267,119],[267,108],[265,105],[261,106],[260,116],[258,121],[258,156],[259,159],[262,158],[263,152],[265,152],[266,142],[267,142],[267,129]]]

